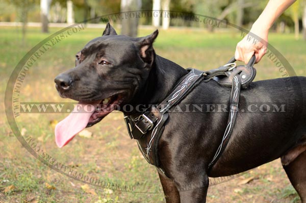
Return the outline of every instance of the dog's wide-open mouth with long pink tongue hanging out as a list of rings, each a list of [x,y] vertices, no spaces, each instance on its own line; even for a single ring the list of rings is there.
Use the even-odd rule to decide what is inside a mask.
[[[91,102],[79,102],[74,106],[72,113],[56,125],[55,140],[58,147],[65,146],[79,132],[99,122],[112,111],[118,110],[122,102],[121,94]]]

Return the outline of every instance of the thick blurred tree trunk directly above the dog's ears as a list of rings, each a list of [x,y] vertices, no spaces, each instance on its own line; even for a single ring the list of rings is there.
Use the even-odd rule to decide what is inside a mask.
[[[121,34],[130,37],[137,37],[138,20],[137,14],[131,11],[141,9],[141,0],[121,0],[122,29]]]

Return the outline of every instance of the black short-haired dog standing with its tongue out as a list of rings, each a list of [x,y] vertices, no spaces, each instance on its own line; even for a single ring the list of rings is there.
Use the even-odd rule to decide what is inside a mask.
[[[55,82],[62,97],[78,100],[80,109],[93,107],[58,124],[56,141],[60,147],[112,110],[123,111],[119,109],[123,105],[161,103],[187,74],[186,69],[155,54],[152,43],[157,35],[158,31],[140,38],[117,35],[108,24],[103,36],[91,40],[77,54],[75,67],[58,75]],[[210,170],[208,165],[221,142],[228,112],[224,108],[216,112],[170,112],[158,143],[158,172],[166,201],[205,202],[209,176],[232,175],[281,158],[305,203],[305,87],[306,78],[292,77],[254,82],[242,90],[239,106],[249,111],[238,112],[232,137]],[[202,82],[178,106],[228,104],[230,93],[230,88],[214,80]],[[273,104],[283,106],[272,111],[268,105]],[[139,114],[135,109],[123,113]]]

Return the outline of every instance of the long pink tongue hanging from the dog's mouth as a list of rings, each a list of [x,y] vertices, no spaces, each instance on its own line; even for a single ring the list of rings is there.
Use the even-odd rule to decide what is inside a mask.
[[[65,146],[75,135],[85,129],[96,106],[86,104],[75,105],[72,113],[56,125],[55,141],[58,147]]]

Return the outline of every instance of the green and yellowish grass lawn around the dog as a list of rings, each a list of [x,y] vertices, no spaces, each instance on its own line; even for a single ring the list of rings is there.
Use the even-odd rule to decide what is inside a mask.
[[[50,28],[50,33],[58,31]],[[140,30],[148,35],[153,30]],[[67,102],[58,96],[53,79],[74,65],[74,55],[90,39],[100,36],[103,30],[85,29],[57,43],[31,67],[20,93],[21,102]],[[20,28],[0,30],[0,92],[4,95],[8,78],[20,59],[50,34],[29,28],[27,38],[21,42]],[[271,33],[270,43],[281,52],[298,75],[306,75],[306,42],[295,40],[292,34]],[[216,68],[234,55],[240,33],[207,33],[193,29],[160,31],[155,42],[157,54],[183,67],[201,70]],[[281,77],[281,73],[267,57],[256,65],[257,80]],[[5,119],[4,96],[0,97],[0,202],[164,202],[161,185],[154,167],[146,163],[135,141],[126,133],[121,113],[113,113],[89,130],[92,138],[76,137],[58,149],[54,142],[54,125],[66,115],[22,114],[16,119],[25,137],[35,143],[58,162],[84,175],[100,177],[107,183],[130,185],[133,193],[104,190],[70,179],[31,156],[12,134]],[[256,179],[237,185],[246,177]],[[235,190],[240,189],[240,190]],[[238,192],[235,192],[238,191]],[[235,180],[210,187],[209,202],[298,202],[281,165],[276,161]]]

